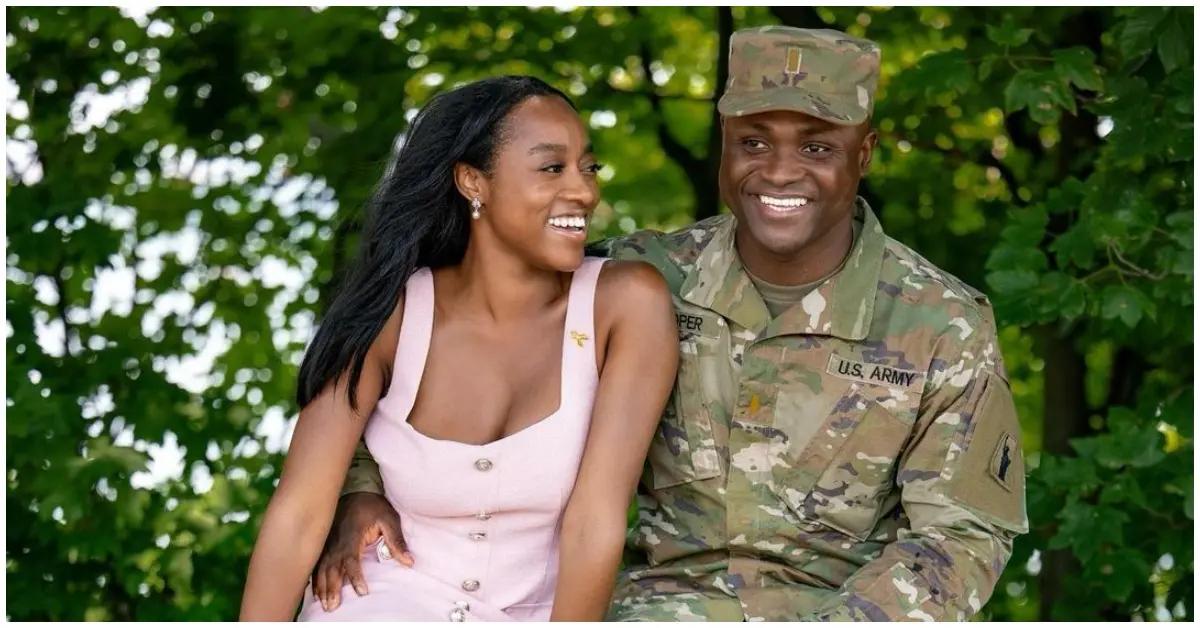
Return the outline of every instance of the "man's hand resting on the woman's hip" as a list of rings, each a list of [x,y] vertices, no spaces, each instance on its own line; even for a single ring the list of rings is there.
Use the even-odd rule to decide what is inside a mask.
[[[312,574],[312,592],[325,611],[342,604],[342,584],[349,579],[359,596],[368,593],[362,576],[362,552],[383,538],[391,558],[413,566],[400,515],[382,495],[352,492],[337,503],[334,527]]]

